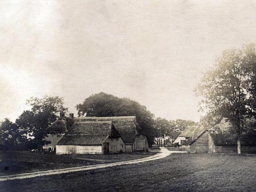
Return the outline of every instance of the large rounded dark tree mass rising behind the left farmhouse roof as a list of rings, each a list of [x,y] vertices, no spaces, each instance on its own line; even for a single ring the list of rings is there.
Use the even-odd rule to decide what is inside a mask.
[[[149,145],[155,137],[153,128],[154,115],[136,101],[129,98],[118,98],[111,94],[98,93],[86,98],[83,103],[77,104],[78,116],[136,116],[141,127],[140,132],[147,136]]]

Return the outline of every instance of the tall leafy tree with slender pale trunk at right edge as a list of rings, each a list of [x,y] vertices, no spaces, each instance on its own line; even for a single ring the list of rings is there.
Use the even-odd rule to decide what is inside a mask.
[[[231,122],[238,154],[241,153],[241,135],[246,131],[245,117],[255,114],[255,53],[254,44],[223,51],[195,89],[196,95],[204,97],[199,103],[200,110],[209,116],[226,117]]]

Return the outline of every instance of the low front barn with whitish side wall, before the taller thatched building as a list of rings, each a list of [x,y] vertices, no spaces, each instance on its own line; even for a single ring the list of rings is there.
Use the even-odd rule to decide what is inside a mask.
[[[77,121],[56,144],[56,154],[111,154],[125,152],[112,121]]]

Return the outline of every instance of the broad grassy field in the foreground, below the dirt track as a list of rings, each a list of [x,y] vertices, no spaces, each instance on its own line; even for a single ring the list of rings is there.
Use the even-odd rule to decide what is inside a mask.
[[[171,154],[156,161],[0,183],[2,191],[256,191],[256,155]]]

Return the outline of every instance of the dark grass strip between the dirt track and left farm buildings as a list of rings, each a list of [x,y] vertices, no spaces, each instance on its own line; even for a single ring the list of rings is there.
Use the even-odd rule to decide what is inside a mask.
[[[140,159],[156,153],[54,155],[0,151],[0,176]],[[8,167],[8,170],[4,170]]]

